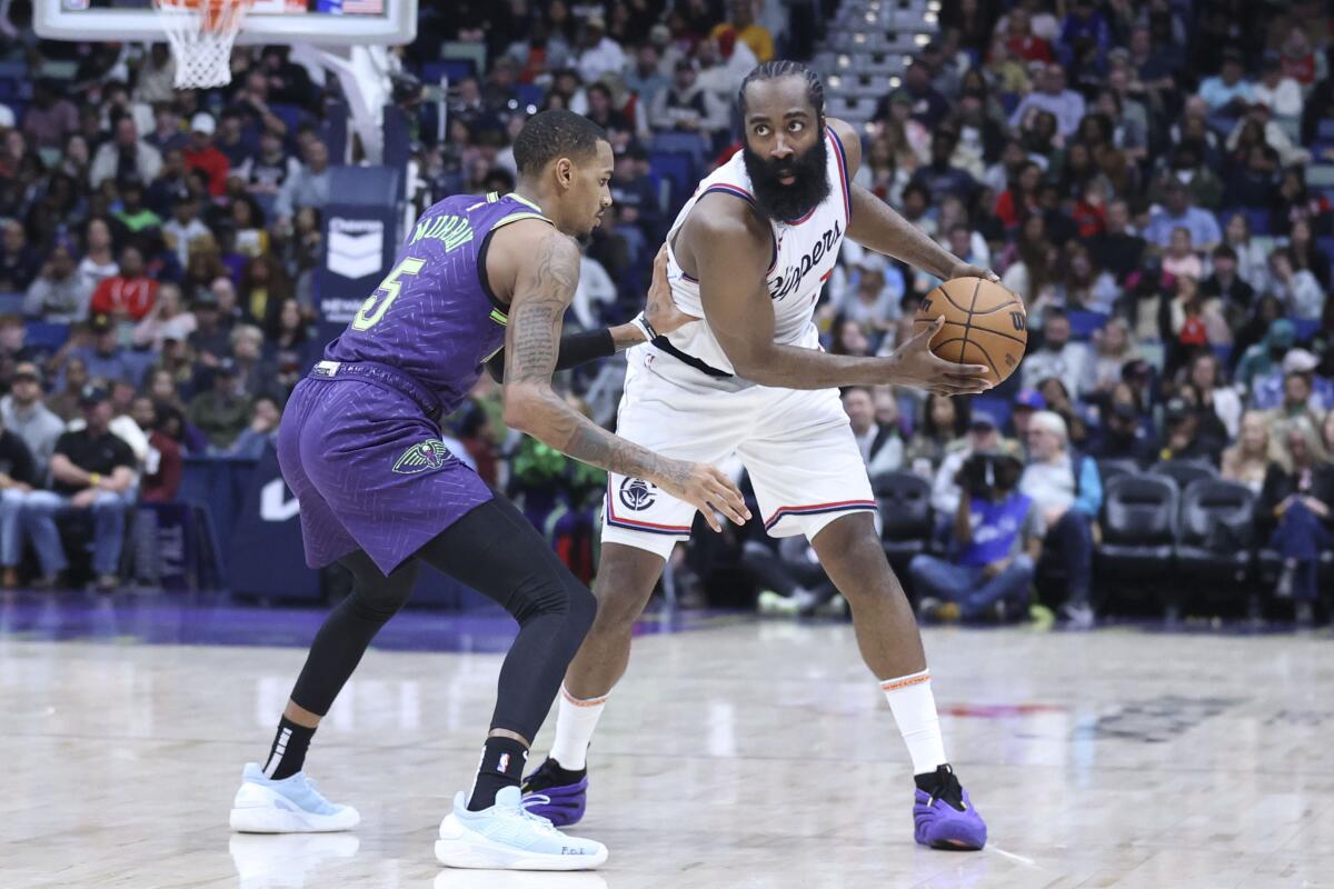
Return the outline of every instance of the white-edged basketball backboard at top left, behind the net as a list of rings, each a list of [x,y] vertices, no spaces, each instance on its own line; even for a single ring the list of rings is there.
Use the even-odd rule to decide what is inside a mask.
[[[33,0],[48,40],[163,41],[152,0]],[[403,44],[416,37],[418,0],[256,0],[236,43]]]

